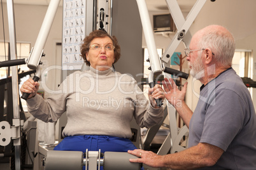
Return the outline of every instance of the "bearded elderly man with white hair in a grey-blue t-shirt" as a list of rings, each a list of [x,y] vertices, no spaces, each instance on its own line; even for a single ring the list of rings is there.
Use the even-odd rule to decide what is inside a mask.
[[[180,91],[173,79],[163,81],[166,99],[189,128],[188,149],[157,155],[129,150],[152,167],[171,169],[255,169],[256,115],[252,98],[232,69],[234,37],[220,25],[196,32],[185,49],[190,74],[201,81],[194,113],[185,103],[187,83]]]

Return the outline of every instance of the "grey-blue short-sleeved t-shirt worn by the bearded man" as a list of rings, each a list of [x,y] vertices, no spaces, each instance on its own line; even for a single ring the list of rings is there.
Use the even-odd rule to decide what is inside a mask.
[[[224,150],[203,169],[256,169],[256,115],[245,84],[230,68],[201,87],[189,126],[188,147],[209,143]]]

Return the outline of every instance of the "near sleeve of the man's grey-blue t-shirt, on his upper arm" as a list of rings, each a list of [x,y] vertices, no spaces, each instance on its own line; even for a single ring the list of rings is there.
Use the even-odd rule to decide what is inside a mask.
[[[229,89],[220,89],[211,97],[204,121],[201,143],[209,143],[227,150],[229,144],[243,127],[245,105]]]

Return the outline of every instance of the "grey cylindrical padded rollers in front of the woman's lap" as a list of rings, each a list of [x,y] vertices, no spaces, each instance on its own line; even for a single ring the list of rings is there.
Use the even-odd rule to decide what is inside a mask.
[[[81,170],[83,166],[88,170],[100,169],[104,170],[139,170],[141,164],[132,163],[129,159],[137,159],[138,157],[128,154],[127,152],[104,152],[101,158],[101,151],[88,151],[83,154],[80,151],[60,151],[49,150],[43,159],[45,170]]]

